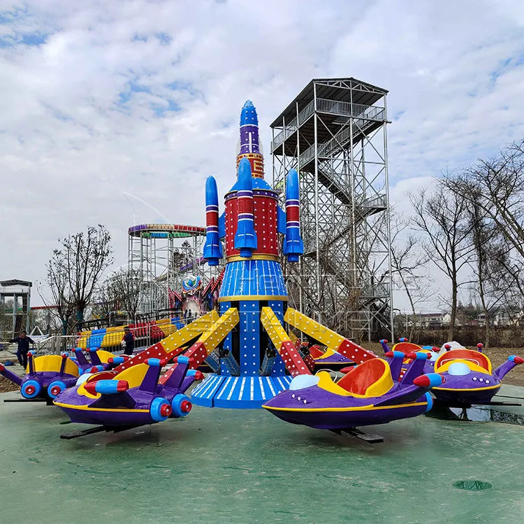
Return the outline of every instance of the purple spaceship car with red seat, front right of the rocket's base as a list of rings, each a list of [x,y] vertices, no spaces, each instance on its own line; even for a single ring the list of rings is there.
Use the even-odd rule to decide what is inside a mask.
[[[374,358],[354,367],[337,383],[328,372],[299,375],[263,405],[286,422],[327,430],[384,424],[417,416],[432,407],[428,390],[442,385],[437,373],[421,374],[426,355],[416,354],[399,381],[402,356]]]

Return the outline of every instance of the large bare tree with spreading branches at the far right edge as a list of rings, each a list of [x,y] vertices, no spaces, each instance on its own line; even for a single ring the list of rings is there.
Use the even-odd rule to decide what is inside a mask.
[[[446,175],[444,183],[468,203],[488,344],[490,310],[511,311],[524,300],[524,141]]]

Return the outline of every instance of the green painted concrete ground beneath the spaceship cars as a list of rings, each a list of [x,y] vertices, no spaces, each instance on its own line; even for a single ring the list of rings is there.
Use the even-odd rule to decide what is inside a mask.
[[[371,446],[262,410],[194,407],[69,441],[59,435],[82,426],[67,420],[0,403],[1,523],[524,522],[519,425],[420,416],[371,428],[386,439]],[[453,487],[463,480],[493,488]]]

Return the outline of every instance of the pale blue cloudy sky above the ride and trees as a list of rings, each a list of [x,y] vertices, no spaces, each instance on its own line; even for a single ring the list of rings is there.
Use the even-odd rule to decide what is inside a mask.
[[[269,150],[311,78],[344,76],[389,90],[401,201],[524,136],[524,2],[0,0],[0,279],[43,278],[89,224],[118,265],[132,224],[203,224],[244,101]]]

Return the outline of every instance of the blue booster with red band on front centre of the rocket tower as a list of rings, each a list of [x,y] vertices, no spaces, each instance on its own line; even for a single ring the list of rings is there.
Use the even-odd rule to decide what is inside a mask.
[[[235,234],[235,249],[240,249],[240,256],[250,259],[256,249],[257,238],[253,216],[253,179],[251,164],[244,158],[238,164],[238,227]]]

